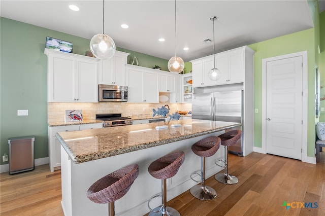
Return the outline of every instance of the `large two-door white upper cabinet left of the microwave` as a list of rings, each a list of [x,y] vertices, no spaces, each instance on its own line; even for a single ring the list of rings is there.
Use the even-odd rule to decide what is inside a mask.
[[[48,102],[98,102],[98,60],[45,49]]]

